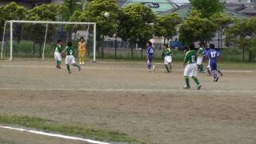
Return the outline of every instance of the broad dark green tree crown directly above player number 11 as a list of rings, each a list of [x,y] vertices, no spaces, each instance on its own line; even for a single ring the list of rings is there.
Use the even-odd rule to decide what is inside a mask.
[[[184,44],[191,42],[208,42],[214,37],[216,27],[207,18],[202,18],[198,10],[192,10],[191,15],[186,19],[179,29],[179,41]]]

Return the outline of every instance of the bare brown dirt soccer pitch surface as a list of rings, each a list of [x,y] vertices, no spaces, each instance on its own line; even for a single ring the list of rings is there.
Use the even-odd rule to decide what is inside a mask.
[[[223,70],[218,83],[182,90],[182,66],[86,63],[67,74],[54,62],[0,62],[0,114],[119,130],[147,143],[256,143],[256,72]],[[4,130],[0,130],[2,133]],[[2,134],[0,134],[1,139]]]

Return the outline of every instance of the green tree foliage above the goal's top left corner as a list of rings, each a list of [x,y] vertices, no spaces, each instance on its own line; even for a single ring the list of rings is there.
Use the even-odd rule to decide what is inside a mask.
[[[26,19],[27,10],[19,6],[16,2],[10,2],[6,6],[0,6],[0,31],[3,30],[4,23],[8,20]]]

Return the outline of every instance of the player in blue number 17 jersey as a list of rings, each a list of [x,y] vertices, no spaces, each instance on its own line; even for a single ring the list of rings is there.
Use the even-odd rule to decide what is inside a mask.
[[[210,73],[214,76],[214,82],[218,82],[217,59],[221,54],[215,50],[214,44],[210,44],[210,50],[206,52],[206,58],[209,59]]]

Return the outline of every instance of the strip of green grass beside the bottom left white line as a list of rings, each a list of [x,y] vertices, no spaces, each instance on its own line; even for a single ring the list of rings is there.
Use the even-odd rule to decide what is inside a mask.
[[[0,123],[24,126],[46,132],[57,132],[61,134],[80,136],[83,138],[92,138],[98,141],[141,143],[138,142],[138,140],[131,138],[129,135],[118,131],[97,130],[89,126],[60,124],[58,122],[52,122],[36,117],[0,115]]]

